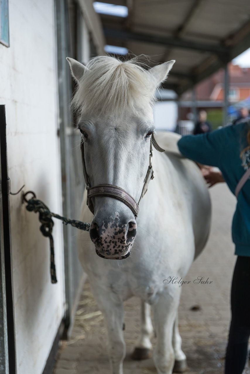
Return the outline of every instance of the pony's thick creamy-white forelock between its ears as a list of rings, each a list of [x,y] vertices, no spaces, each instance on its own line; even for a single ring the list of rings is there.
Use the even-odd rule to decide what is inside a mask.
[[[135,59],[97,56],[88,62],[72,105],[85,113],[123,113],[152,105],[157,82]]]

